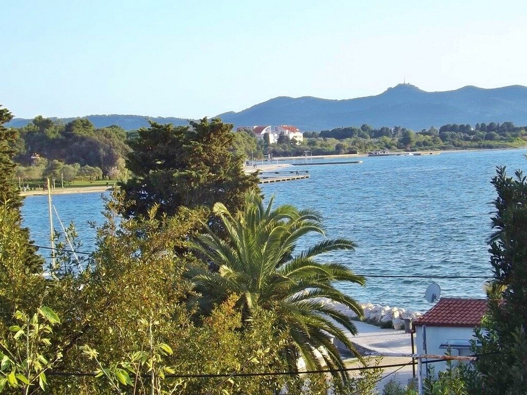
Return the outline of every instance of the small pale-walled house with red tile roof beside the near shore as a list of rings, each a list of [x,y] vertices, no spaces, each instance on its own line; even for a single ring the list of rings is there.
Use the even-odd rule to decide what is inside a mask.
[[[472,355],[474,329],[487,311],[486,299],[441,298],[434,307],[413,322],[418,354]],[[445,362],[433,364],[444,370]]]

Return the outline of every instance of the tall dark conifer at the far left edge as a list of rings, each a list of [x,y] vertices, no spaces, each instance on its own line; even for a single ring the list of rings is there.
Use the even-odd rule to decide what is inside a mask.
[[[1,106],[0,106],[1,107]],[[13,157],[16,150],[13,145],[16,141],[18,132],[15,129],[7,129],[4,123],[11,121],[13,115],[7,108],[0,108],[0,204],[7,206],[9,210],[16,212],[18,226],[22,224],[20,207],[22,206],[22,196],[18,191],[15,179],[16,164]],[[21,246],[25,251],[25,262],[31,272],[42,271],[43,260],[36,254],[36,248],[31,246],[30,232],[27,228],[22,229],[26,245]]]

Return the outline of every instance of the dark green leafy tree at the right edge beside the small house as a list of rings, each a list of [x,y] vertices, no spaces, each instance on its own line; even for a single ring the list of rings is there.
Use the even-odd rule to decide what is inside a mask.
[[[494,280],[488,293],[489,312],[479,331],[482,348],[477,369],[483,393],[523,394],[527,388],[527,179],[505,167],[493,178],[495,230],[490,240]]]

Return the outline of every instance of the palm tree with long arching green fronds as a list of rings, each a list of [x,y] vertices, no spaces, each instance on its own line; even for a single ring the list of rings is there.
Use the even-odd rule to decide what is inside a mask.
[[[217,203],[213,213],[222,221],[225,237],[207,230],[192,242],[192,249],[207,263],[215,264],[216,272],[192,268],[190,278],[202,292],[201,302],[219,302],[228,295],[239,296],[237,306],[242,317],[250,317],[256,306],[274,310],[277,325],[288,330],[292,339],[286,358],[290,368],[297,369],[302,357],[308,369],[342,369],[344,364],[330,336],[355,352],[346,331],[356,334],[353,322],[337,310],[338,302],[359,317],[360,305],[335,288],[338,282],[364,286],[364,278],[355,275],[344,264],[320,262],[318,255],[337,251],[354,251],[355,243],[346,239],[325,239],[305,251],[294,253],[300,238],[314,233],[324,236],[320,216],[313,210],[298,210],[292,205],[272,209],[273,199],[264,206],[261,196],[246,195],[244,211],[232,215]],[[324,349],[319,353],[315,350]],[[317,357],[318,356],[318,357]],[[345,372],[340,377],[347,378]]]

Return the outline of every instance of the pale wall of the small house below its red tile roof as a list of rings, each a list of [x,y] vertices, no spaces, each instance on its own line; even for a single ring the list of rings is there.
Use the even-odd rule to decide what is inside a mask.
[[[430,327],[426,326],[426,353],[443,355],[446,354],[447,350],[440,349],[439,346],[442,343],[446,343],[447,340],[474,340],[474,328],[472,327]],[[422,325],[415,326],[415,347],[418,354],[424,354],[423,344],[423,327]],[[458,350],[452,349],[451,354],[453,356],[470,356],[471,350]],[[453,365],[458,362],[454,361]],[[434,371],[438,372],[446,369],[446,362],[435,362],[431,363],[434,367]],[[423,370],[424,372],[424,370]]]

